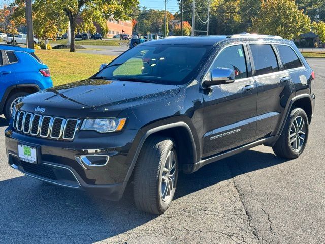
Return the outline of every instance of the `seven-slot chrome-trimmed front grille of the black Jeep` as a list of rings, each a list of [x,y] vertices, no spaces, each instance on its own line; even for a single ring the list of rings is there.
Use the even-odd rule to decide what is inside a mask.
[[[57,140],[73,140],[79,124],[79,119],[43,116],[19,110],[16,110],[13,120],[13,127],[18,132]]]

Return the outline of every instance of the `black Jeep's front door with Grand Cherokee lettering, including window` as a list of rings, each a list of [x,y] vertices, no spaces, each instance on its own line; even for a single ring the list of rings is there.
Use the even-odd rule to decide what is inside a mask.
[[[246,45],[221,49],[204,80],[215,68],[234,69],[235,82],[203,90],[203,158],[252,142],[256,131],[257,88]]]

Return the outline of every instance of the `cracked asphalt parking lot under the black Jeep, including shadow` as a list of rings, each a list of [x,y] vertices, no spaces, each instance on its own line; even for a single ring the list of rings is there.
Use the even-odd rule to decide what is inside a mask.
[[[109,202],[10,168],[0,118],[0,243],[324,243],[325,59],[308,62],[317,101],[304,154],[258,146],[182,174],[161,216],[137,211],[129,190]]]

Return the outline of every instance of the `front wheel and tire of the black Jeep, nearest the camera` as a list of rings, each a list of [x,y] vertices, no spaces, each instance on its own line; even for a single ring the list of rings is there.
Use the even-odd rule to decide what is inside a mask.
[[[171,205],[178,178],[173,140],[152,136],[146,140],[134,172],[134,200],[140,211],[163,214]]]

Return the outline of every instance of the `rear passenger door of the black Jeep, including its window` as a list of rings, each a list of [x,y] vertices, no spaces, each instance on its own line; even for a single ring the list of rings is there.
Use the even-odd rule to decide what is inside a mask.
[[[257,82],[256,139],[276,134],[288,97],[294,92],[293,81],[281,69],[273,44],[250,43],[253,75]]]

